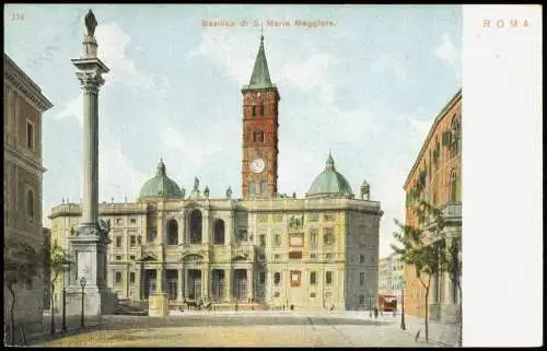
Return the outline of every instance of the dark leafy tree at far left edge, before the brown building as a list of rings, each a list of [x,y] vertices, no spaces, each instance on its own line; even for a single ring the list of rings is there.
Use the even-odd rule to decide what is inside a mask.
[[[36,250],[21,238],[9,236],[4,239],[4,285],[11,294],[10,334],[11,342],[15,343],[15,305],[16,286],[31,284],[38,276],[43,264],[43,250]]]

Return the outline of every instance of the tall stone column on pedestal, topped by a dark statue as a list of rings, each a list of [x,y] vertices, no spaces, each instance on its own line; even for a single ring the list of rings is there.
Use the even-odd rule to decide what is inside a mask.
[[[83,93],[83,202],[77,235],[69,237],[70,251],[74,253],[78,265],[77,279],[68,288],[67,314],[81,313],[84,282],[86,315],[109,314],[115,305],[115,295],[105,279],[107,265],[103,264],[108,257],[109,223],[98,220],[98,90],[104,84],[102,74],[109,70],[97,57],[96,25],[90,10],[85,15],[83,54],[72,59]]]

